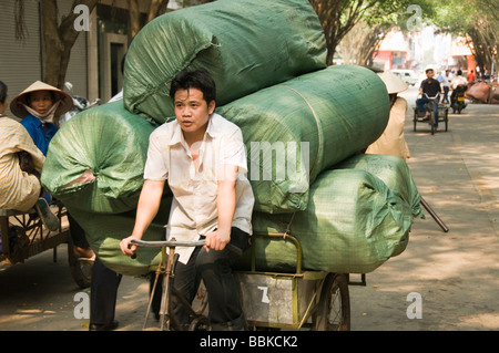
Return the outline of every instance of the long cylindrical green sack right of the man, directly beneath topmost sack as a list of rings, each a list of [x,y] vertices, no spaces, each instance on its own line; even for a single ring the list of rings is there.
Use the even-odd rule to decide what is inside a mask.
[[[339,65],[261,90],[217,113],[243,132],[255,210],[277,214],[305,209],[309,184],[375,142],[389,108],[377,74]]]

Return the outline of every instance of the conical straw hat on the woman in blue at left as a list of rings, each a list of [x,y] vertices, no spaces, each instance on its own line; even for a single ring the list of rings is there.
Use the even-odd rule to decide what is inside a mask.
[[[23,104],[28,105],[27,94],[35,91],[53,91],[57,93],[57,95],[59,95],[59,100],[61,101],[61,103],[55,111],[55,116],[64,114],[73,106],[73,98],[68,93],[55,89],[54,86],[51,86],[50,84],[47,84],[44,82],[37,81],[28,89],[22,91],[17,97],[14,97],[12,102],[10,102],[10,111],[12,112],[12,114],[16,114],[16,116],[20,118],[27,117],[29,113]],[[55,98],[53,103],[58,102],[59,100]]]

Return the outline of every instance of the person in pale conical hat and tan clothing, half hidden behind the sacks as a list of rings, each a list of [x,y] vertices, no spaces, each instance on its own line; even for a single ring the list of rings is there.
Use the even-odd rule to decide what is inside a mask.
[[[398,93],[408,89],[400,77],[389,71],[379,75],[386,85],[390,98],[390,116],[381,136],[367,147],[368,154],[393,155],[407,160],[410,157],[409,147],[404,136],[404,124],[406,122],[407,101],[397,96]]]

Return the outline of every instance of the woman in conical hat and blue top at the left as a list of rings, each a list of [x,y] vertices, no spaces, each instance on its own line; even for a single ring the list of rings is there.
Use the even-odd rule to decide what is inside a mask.
[[[68,93],[37,81],[12,100],[10,111],[22,118],[21,124],[37,147],[47,155],[49,143],[58,131],[53,118],[72,106],[73,100]]]

